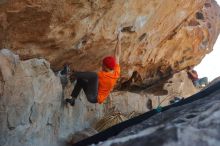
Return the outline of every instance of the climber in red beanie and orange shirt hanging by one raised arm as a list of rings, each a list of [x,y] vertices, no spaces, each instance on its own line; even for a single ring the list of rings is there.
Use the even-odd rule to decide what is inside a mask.
[[[117,36],[114,56],[107,56],[102,60],[102,70],[96,72],[73,72],[71,79],[76,80],[76,85],[72,91],[71,98],[66,102],[75,105],[75,100],[81,89],[91,103],[103,103],[113,90],[117,79],[120,76],[119,59],[121,55],[121,32]]]

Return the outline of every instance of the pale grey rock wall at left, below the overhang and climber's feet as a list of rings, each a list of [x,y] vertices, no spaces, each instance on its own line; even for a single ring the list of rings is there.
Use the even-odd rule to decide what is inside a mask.
[[[68,136],[94,124],[102,106],[77,100],[64,105],[68,96],[44,59],[20,61],[9,50],[0,50],[0,145],[64,145]]]

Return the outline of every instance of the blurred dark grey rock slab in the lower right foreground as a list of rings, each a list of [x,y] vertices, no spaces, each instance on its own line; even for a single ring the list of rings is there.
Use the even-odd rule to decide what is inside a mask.
[[[99,146],[216,146],[220,143],[220,91],[159,113]]]

